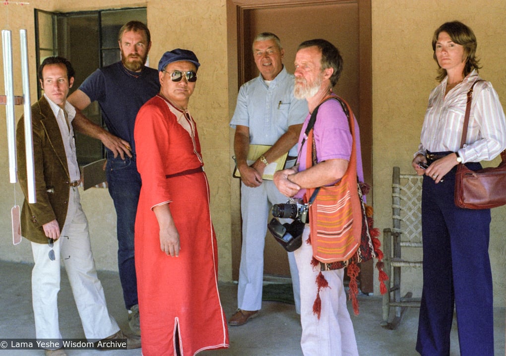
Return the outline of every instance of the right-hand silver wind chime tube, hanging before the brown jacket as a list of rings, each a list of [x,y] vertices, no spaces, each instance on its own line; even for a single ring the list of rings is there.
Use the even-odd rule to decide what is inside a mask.
[[[36,203],[35,166],[33,162],[33,137],[31,126],[30,80],[28,77],[28,42],[26,30],[19,30],[21,42],[21,75],[23,79],[23,108],[25,120],[26,179],[28,182],[28,203]]]

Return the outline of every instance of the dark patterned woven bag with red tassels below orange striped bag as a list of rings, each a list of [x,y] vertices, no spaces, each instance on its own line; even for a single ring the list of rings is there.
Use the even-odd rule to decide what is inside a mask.
[[[369,191],[369,186],[363,183],[360,183],[360,192],[365,195]],[[362,201],[362,197],[360,197]],[[339,270],[341,268],[347,268],[347,275],[350,277],[349,284],[349,299],[352,301],[353,311],[355,315],[359,314],[359,306],[358,306],[358,285],[357,278],[360,273],[360,268],[358,263],[367,261],[373,257],[377,259],[376,269],[379,271],[378,280],[379,280],[379,292],[381,294],[385,294],[387,292],[387,286],[385,285],[385,281],[388,280],[387,274],[383,271],[383,251],[380,249],[381,241],[379,241],[379,229],[374,228],[374,220],[372,218],[373,209],[369,205],[365,205],[362,201],[363,211],[365,212],[364,216],[364,224],[362,224],[362,241],[360,247],[357,249],[357,252],[347,261],[344,262],[333,262],[333,263],[322,263],[313,257],[311,261],[311,265],[316,267],[320,264],[321,271],[330,271],[330,270]],[[370,236],[370,241],[369,241]],[[308,239],[308,243],[311,243],[311,236]],[[318,274],[316,277],[316,284],[318,286],[318,291],[316,293],[316,299],[313,303],[313,314],[315,314],[318,319],[320,319],[321,315],[321,299],[320,299],[320,290],[322,288],[328,287],[328,282],[325,279],[325,276],[322,272]]]

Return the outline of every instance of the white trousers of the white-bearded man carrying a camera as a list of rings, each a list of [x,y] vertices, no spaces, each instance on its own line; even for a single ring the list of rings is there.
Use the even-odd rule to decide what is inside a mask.
[[[343,269],[322,272],[328,288],[320,289],[320,319],[313,314],[320,265],[311,265],[313,248],[307,243],[308,237],[309,225],[306,225],[302,246],[294,251],[301,281],[301,346],[304,356],[358,356],[355,332],[346,307]]]

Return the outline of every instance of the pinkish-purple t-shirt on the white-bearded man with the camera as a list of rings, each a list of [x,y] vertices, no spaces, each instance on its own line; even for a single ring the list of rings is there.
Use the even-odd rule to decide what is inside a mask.
[[[301,135],[299,136],[298,151],[299,153],[299,171],[306,169],[307,142],[301,149],[301,143],[305,136],[306,127],[308,126],[311,114],[308,114],[302,126]],[[362,169],[362,155],[360,150],[360,132],[355,117],[355,140],[357,152],[357,175],[360,182],[364,181],[364,173]],[[317,162],[328,159],[341,158],[350,160],[352,150],[352,136],[348,118],[343,107],[337,100],[327,100],[318,108],[316,122],[313,129],[313,137],[316,145]],[[296,194],[296,198],[302,198],[305,189],[301,189]]]

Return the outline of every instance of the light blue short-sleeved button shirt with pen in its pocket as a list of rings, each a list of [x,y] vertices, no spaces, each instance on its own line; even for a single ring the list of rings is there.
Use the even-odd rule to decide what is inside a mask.
[[[249,127],[249,143],[272,146],[288,130],[288,126],[304,122],[308,114],[305,99],[293,96],[295,77],[286,68],[267,85],[262,74],[242,84],[230,126]],[[288,152],[297,156],[297,145]]]

